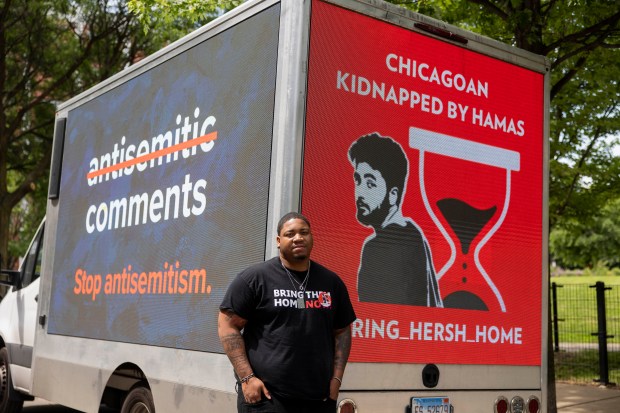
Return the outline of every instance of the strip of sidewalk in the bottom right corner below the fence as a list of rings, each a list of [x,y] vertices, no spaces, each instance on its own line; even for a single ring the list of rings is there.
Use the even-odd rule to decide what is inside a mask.
[[[620,389],[556,383],[558,413],[620,412]]]

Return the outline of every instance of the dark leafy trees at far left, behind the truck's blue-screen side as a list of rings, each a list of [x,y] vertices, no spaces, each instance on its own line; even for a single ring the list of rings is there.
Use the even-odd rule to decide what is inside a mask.
[[[147,36],[124,0],[0,3],[0,265],[45,213],[55,105],[179,37],[176,23]]]

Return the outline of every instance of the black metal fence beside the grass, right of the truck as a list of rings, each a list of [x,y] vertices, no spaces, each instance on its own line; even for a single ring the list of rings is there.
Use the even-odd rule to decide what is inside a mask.
[[[556,379],[620,384],[620,286],[551,284]]]

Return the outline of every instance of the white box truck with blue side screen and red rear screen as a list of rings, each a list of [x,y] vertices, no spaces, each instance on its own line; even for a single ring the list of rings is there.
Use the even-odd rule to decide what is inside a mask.
[[[339,411],[546,411],[548,72],[379,0],[254,0],[60,104],[2,411],[235,411],[218,307],[290,210],[358,316]]]

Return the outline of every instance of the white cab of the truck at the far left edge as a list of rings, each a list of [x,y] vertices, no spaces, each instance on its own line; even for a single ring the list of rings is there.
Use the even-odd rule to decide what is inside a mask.
[[[32,351],[36,329],[45,220],[30,243],[18,271],[2,270],[8,287],[0,301],[0,411],[18,412],[30,400]]]

